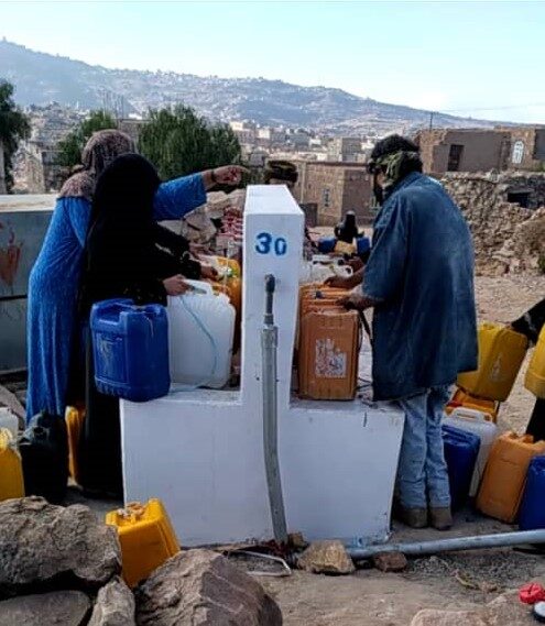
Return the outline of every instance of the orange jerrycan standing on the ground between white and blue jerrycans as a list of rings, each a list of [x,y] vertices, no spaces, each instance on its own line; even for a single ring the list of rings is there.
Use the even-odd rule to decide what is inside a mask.
[[[516,519],[530,462],[545,453],[545,441],[534,443],[531,435],[505,432],[490,452],[477,496],[477,508],[508,524]]]

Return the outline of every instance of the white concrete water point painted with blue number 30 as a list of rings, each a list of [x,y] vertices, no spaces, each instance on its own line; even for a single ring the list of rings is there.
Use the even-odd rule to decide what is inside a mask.
[[[249,188],[240,392],[121,402],[126,498],[161,498],[184,546],[273,537],[260,382],[268,274],[276,278],[279,458],[288,531],[348,545],[388,539],[403,414],[389,404],[291,394],[303,228],[285,187]],[[369,360],[367,351],[367,371]]]

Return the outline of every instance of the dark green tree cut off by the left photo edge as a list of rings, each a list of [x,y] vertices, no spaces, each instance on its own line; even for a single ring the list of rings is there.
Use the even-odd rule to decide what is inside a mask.
[[[13,186],[13,155],[19,142],[30,135],[30,122],[13,101],[13,85],[0,80],[0,143],[4,153],[4,177],[8,191]]]

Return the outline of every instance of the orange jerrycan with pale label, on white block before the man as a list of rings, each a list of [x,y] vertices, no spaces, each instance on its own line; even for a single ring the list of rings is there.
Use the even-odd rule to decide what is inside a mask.
[[[358,382],[359,317],[329,308],[305,315],[299,336],[299,395],[313,399],[348,400]]]

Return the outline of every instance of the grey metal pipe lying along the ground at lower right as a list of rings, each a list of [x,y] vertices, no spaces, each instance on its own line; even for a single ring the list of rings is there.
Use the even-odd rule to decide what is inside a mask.
[[[499,532],[497,535],[481,535],[477,537],[454,537],[451,539],[416,541],[414,543],[385,543],[384,546],[348,548],[348,553],[355,561],[361,561],[384,552],[403,552],[406,556],[416,557],[457,550],[505,548],[508,546],[520,546],[521,543],[545,543],[545,529]]]

